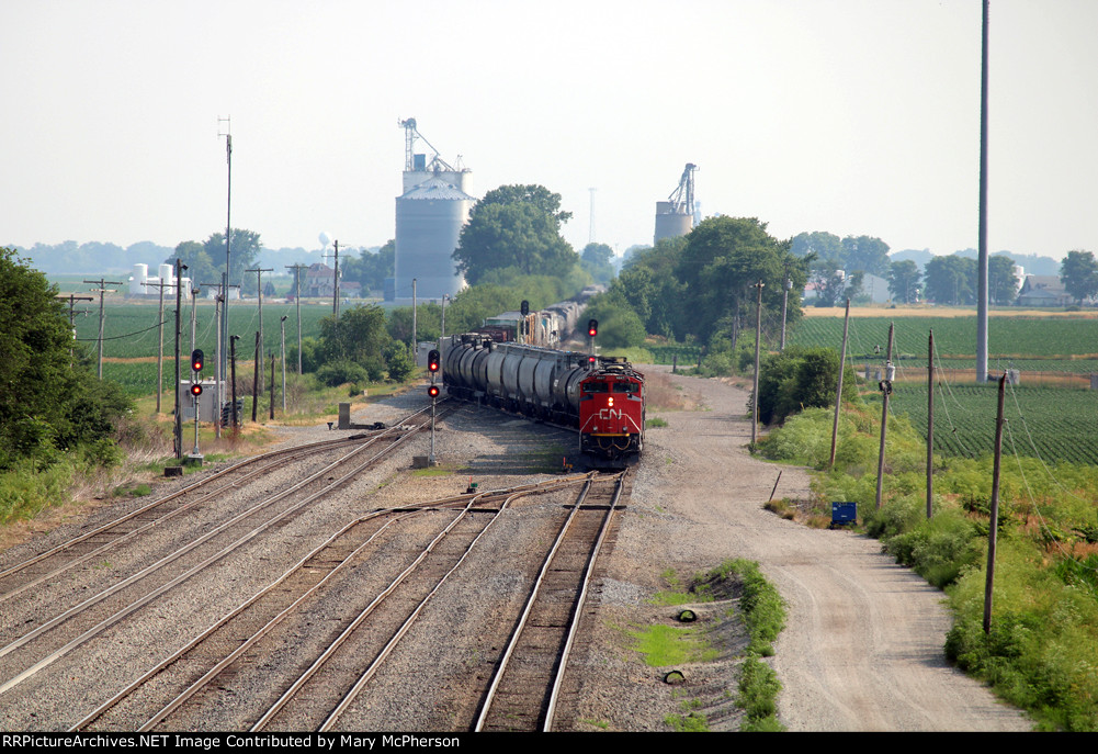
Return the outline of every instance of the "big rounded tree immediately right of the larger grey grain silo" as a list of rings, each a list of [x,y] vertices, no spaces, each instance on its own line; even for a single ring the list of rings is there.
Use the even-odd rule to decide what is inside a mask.
[[[560,235],[571,213],[559,211],[560,195],[542,186],[502,186],[473,207],[461,229],[453,260],[471,285],[493,269],[524,275],[565,275],[579,257]]]

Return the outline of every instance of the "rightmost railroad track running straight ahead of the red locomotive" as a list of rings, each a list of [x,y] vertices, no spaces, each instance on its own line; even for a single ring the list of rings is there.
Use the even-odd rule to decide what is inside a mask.
[[[592,480],[572,507],[496,666],[473,730],[552,730],[595,561],[626,484],[625,473]],[[597,492],[591,489],[595,485],[601,487]]]

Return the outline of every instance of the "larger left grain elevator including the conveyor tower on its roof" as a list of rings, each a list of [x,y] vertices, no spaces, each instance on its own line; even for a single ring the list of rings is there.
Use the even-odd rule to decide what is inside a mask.
[[[475,201],[467,192],[471,173],[450,166],[437,152],[429,159],[415,154],[416,138],[429,142],[416,130],[415,119],[400,124],[405,130],[404,193],[396,198],[393,296],[410,301],[413,279],[421,301],[453,296],[464,287],[452,255]]]

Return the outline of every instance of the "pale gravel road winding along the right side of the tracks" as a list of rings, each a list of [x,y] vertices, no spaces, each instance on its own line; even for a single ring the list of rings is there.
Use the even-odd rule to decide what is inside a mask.
[[[659,369],[659,367],[656,367]],[[1017,711],[949,667],[942,594],[881,553],[875,540],[815,530],[765,511],[808,495],[808,475],[747,455],[748,393],[676,376],[707,410],[660,413],[648,433],[634,504],[670,514],[661,554],[680,572],[729,557],[758,561],[788,603],[773,666],[778,717],[792,731],[1024,731]],[[659,557],[623,531],[616,556]]]

